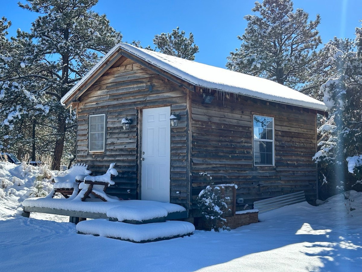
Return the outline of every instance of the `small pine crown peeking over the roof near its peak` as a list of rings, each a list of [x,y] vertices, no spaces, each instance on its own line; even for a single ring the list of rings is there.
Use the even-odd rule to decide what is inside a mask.
[[[185,37],[185,31],[177,26],[172,33],[161,33],[155,35],[153,44],[162,53],[176,56],[179,58],[189,59],[193,61],[195,54],[199,51],[199,47],[194,44],[194,35],[190,32],[189,37]]]

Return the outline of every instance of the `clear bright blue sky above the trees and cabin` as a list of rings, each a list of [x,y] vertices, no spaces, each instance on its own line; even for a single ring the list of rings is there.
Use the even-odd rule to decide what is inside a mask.
[[[19,0],[0,0],[0,17],[7,17],[16,29],[29,31],[30,24],[38,14],[18,7]],[[21,1],[25,3],[25,0]],[[314,20],[321,16],[317,28],[323,43],[334,36],[354,38],[354,30],[361,27],[361,0],[294,0],[294,9],[302,8]],[[237,35],[242,35],[247,22],[245,15],[252,14],[254,0],[99,0],[93,8],[105,13],[111,26],[122,32],[123,41],[139,40],[143,46],[153,46],[155,34],[171,32],[176,26],[186,33],[194,34],[199,53],[195,61],[213,66],[225,67],[230,51],[239,48]]]

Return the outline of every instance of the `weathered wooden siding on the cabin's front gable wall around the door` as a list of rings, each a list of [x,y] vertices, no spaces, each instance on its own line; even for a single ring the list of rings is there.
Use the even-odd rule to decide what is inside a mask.
[[[149,85],[153,85],[150,92]],[[189,205],[186,180],[186,90],[175,83],[126,59],[112,67],[81,97],[78,108],[77,161],[89,164],[95,175],[104,174],[109,164],[116,162],[119,175],[107,193],[123,199],[136,199],[138,181],[139,108],[171,105],[171,111],[181,115],[176,128],[171,129],[171,202]],[[89,115],[106,114],[106,151],[88,152]],[[129,131],[123,131],[121,121],[131,118]]]

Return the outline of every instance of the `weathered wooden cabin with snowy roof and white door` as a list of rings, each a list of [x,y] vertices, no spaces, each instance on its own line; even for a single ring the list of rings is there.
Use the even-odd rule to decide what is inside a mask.
[[[236,184],[236,210],[298,191],[317,199],[323,102],[267,79],[117,44],[61,100],[76,109],[76,160],[116,162],[107,193],[184,206]],[[207,173],[212,180],[200,173]]]

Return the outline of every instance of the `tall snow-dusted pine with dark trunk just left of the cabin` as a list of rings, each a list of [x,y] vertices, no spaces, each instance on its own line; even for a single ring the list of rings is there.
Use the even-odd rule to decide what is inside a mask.
[[[110,26],[105,15],[91,10],[97,0],[28,0],[28,3],[19,5],[41,16],[32,23],[29,39],[34,46],[27,49],[23,63],[36,63],[38,67],[21,78],[33,82],[31,95],[48,99],[42,106],[49,106],[49,123],[45,125],[52,128],[54,137],[52,169],[59,169],[66,132],[75,127],[60,98],[102,54],[121,41],[122,35]]]

